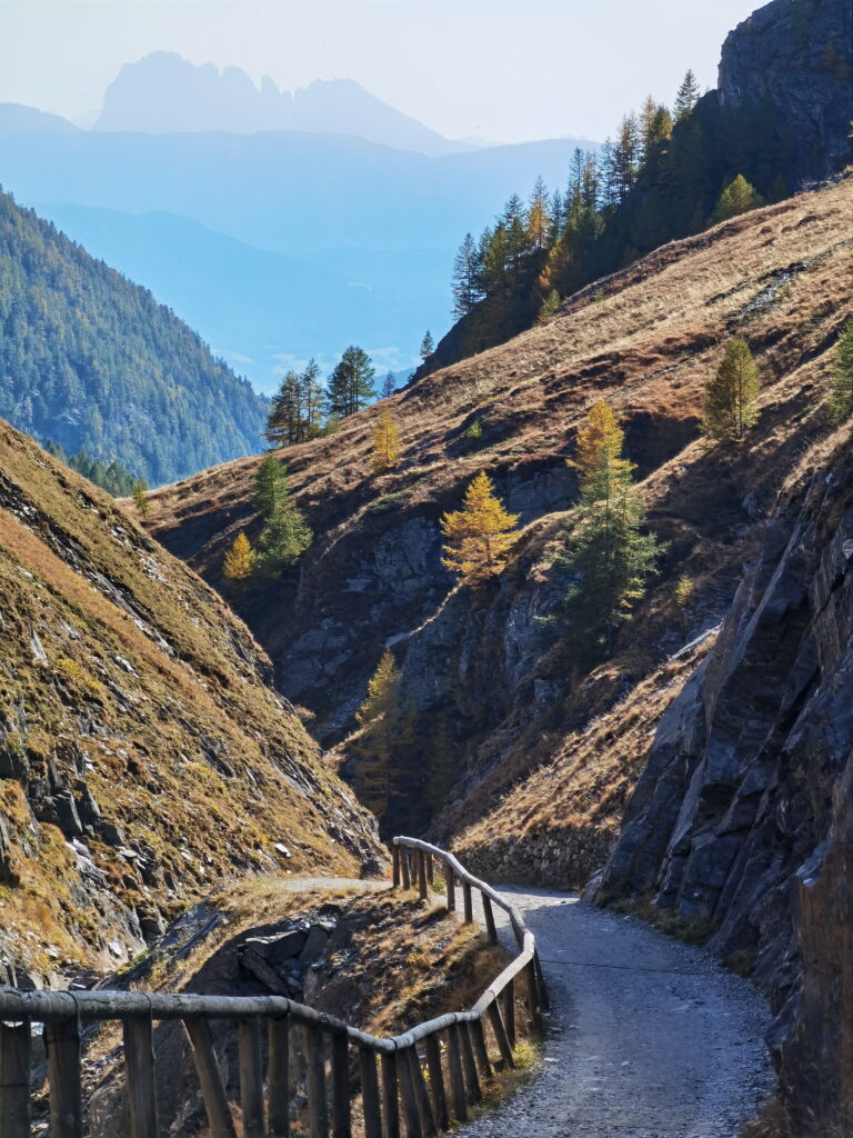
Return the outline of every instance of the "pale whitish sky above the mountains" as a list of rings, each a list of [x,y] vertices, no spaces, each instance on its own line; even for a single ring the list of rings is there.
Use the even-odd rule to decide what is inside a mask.
[[[0,102],[96,110],[158,49],[293,90],[355,79],[449,138],[602,140],[761,0],[0,0]]]

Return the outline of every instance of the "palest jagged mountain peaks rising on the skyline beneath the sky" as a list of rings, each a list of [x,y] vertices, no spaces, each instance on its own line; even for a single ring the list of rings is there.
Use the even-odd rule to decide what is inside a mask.
[[[309,131],[355,134],[426,155],[469,150],[375,98],[353,80],[317,80],[281,91],[265,76],[257,88],[238,67],[197,67],[174,51],[155,51],[125,64],[107,89],[97,131],[148,134],[226,131]]]

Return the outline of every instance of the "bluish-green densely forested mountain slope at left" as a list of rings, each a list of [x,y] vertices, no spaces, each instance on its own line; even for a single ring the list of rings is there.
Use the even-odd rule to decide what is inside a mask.
[[[256,451],[264,402],[150,292],[0,193],[0,415],[156,484]]]

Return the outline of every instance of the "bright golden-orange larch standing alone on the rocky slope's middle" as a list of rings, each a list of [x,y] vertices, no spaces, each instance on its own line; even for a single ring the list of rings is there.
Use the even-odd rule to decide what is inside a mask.
[[[513,544],[521,514],[507,513],[489,476],[481,471],[465,490],[462,510],[441,518],[446,541],[441,564],[465,580],[498,572]]]

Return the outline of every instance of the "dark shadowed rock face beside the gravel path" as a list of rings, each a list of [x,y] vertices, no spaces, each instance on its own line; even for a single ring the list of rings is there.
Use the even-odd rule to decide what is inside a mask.
[[[661,720],[605,896],[710,921],[775,997],[801,1112],[853,1107],[853,465],[847,432],[768,525],[714,651]]]

